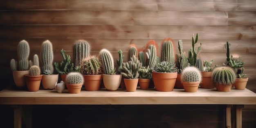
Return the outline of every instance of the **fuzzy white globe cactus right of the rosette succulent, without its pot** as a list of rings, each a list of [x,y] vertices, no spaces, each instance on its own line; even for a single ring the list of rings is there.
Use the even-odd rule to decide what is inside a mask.
[[[202,74],[196,67],[186,67],[181,74],[182,82],[196,82],[202,81]]]

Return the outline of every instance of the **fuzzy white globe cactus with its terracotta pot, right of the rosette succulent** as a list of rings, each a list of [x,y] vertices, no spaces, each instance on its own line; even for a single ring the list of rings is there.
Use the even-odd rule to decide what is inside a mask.
[[[181,81],[185,92],[197,92],[202,81],[202,74],[196,67],[186,67],[182,71]]]

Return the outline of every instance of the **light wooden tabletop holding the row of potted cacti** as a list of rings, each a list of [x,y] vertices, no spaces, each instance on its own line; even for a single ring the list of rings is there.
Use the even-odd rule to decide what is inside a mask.
[[[231,89],[230,92],[218,92],[216,89],[198,88],[198,92],[184,92],[184,89],[174,89],[172,92],[158,92],[155,89],[127,92],[126,90],[86,91],[82,88],[79,94],[70,94],[67,90],[62,93],[56,90],[27,90],[5,89],[0,91],[0,104],[5,105],[107,105],[107,104],[234,104],[256,105],[256,93],[245,89]]]

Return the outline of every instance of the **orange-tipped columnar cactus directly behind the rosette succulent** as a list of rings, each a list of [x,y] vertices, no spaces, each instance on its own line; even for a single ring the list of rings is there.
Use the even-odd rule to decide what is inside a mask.
[[[167,61],[171,64],[176,62],[175,45],[171,38],[164,38],[162,41],[161,61]]]

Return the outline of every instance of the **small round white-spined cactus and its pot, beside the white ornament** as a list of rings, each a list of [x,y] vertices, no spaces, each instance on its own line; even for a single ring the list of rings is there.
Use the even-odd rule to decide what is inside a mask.
[[[66,77],[68,93],[80,93],[84,83],[83,75],[80,72],[70,72]]]

